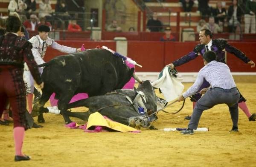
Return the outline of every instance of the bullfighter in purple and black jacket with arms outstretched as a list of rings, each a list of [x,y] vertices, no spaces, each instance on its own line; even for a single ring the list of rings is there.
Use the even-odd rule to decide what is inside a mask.
[[[199,54],[203,55],[206,51],[214,51],[217,54],[217,62],[225,63],[225,51],[234,54],[236,57],[241,59],[243,62],[251,65],[251,68],[255,67],[255,63],[250,60],[245,54],[239,49],[229,45],[226,40],[212,40],[212,32],[208,29],[202,29],[199,33],[199,40],[201,44],[195,46],[194,50],[189,54],[181,57],[180,59],[175,60],[171,64],[167,65],[170,66],[172,69],[189,62],[192,59],[198,57]],[[198,89],[197,92],[201,91],[203,88],[208,88],[210,86],[209,82],[204,80],[204,83]],[[240,93],[240,92],[239,92]],[[193,102],[193,108],[195,108],[195,102],[197,102],[201,98],[201,94],[197,93],[192,96],[191,101]],[[256,120],[256,113],[251,114],[247,105],[245,103],[246,99],[240,93],[239,99],[239,108],[244,111],[245,115],[248,117],[249,121]]]

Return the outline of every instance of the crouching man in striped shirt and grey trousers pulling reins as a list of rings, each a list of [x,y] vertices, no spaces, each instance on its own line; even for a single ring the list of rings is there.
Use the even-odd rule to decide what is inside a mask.
[[[204,80],[211,85],[209,88],[204,88],[200,91],[204,94],[195,105],[188,129],[181,131],[181,134],[192,135],[194,129],[198,127],[199,119],[204,110],[208,110],[218,104],[226,104],[229,107],[233,127],[230,131],[238,132],[238,101],[239,92],[236,88],[230,68],[216,61],[214,51],[206,51],[203,55],[204,67],[198,72],[195,83],[182,95],[178,101],[183,101],[185,98],[195,94],[203,84]]]

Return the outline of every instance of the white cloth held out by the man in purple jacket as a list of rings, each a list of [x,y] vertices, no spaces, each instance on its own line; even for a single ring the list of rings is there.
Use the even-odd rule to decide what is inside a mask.
[[[168,67],[163,69],[163,76],[152,82],[152,86],[160,88],[167,102],[176,99],[183,91],[184,85],[180,82],[180,78],[175,78],[169,73]]]

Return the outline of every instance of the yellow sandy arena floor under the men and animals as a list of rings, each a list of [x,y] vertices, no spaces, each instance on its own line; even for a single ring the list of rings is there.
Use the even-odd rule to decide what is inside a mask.
[[[187,89],[192,83],[184,85]],[[256,113],[256,83],[237,85],[247,98],[250,112]],[[175,103],[168,111],[173,112],[180,105],[181,102]],[[191,112],[192,102],[187,99],[180,113],[159,113],[154,126],[187,127],[184,116]],[[199,127],[209,127],[210,131],[195,132],[192,136],[160,130],[143,130],[138,134],[84,133],[64,127],[60,115],[44,114],[44,118],[43,128],[26,131],[23,152],[32,157],[30,161],[14,162],[12,125],[0,126],[1,167],[256,167],[256,122],[249,122],[239,110],[240,133],[229,133],[232,122],[225,105],[205,111]]]

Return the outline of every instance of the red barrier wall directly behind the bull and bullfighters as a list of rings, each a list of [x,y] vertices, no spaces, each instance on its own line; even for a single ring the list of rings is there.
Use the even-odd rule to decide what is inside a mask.
[[[84,44],[85,48],[96,48],[97,45],[105,45],[112,50],[116,50],[115,41],[58,41],[61,45],[79,48]],[[229,42],[239,50],[243,51],[251,60],[256,62],[256,42]],[[139,72],[159,72],[162,68],[188,54],[193,50],[198,42],[160,42],[160,41],[128,41],[128,57],[134,59],[143,68],[136,68]],[[45,61],[49,61],[55,56],[63,55],[61,52],[47,48]],[[227,54],[227,65],[232,72],[256,72],[256,68],[250,68],[233,54]],[[201,56],[177,67],[179,72],[198,72],[204,66]]]

